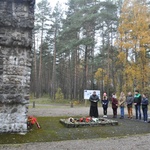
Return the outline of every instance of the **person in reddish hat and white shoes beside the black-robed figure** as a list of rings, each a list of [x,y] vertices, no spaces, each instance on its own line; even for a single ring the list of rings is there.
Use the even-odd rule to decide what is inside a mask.
[[[107,94],[104,93],[103,98],[102,98],[103,117],[107,117],[108,103],[109,103],[109,101],[108,101],[108,98],[107,98]]]

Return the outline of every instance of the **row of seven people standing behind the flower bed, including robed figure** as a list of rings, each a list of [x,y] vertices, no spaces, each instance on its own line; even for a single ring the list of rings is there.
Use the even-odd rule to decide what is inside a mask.
[[[93,94],[90,96],[89,101],[91,102],[90,105],[90,116],[98,118],[98,101],[99,97],[94,91]],[[135,107],[135,118],[141,120],[141,108],[143,112],[143,120],[145,122],[148,121],[148,97],[147,95],[140,94],[138,90],[135,91],[134,96],[131,92],[128,92],[128,95],[125,96],[124,92],[120,93],[119,98],[117,98],[116,94],[112,94],[112,97],[108,99],[107,94],[103,93],[103,97],[101,100],[102,108],[103,108],[103,117],[107,117],[107,109],[109,101],[112,105],[113,110],[113,118],[117,118],[117,110],[118,107],[120,107],[120,119],[123,119],[124,114],[124,108],[127,107],[128,111],[128,118],[133,118],[133,105]]]

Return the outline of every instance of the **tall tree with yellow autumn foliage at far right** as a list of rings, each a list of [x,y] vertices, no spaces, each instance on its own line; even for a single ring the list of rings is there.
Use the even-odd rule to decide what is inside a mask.
[[[122,68],[122,89],[144,91],[150,86],[150,12],[144,0],[125,0],[118,27],[118,64]]]

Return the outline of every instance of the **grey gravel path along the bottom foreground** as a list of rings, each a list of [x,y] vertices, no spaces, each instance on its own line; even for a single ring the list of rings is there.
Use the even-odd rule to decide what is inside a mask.
[[[111,139],[74,140],[0,145],[0,150],[149,150],[150,135]]]

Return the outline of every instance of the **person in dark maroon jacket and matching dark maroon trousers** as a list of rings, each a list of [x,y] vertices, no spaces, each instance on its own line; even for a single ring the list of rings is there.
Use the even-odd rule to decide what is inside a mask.
[[[113,118],[117,118],[117,108],[118,108],[117,96],[116,96],[116,94],[112,94]]]

